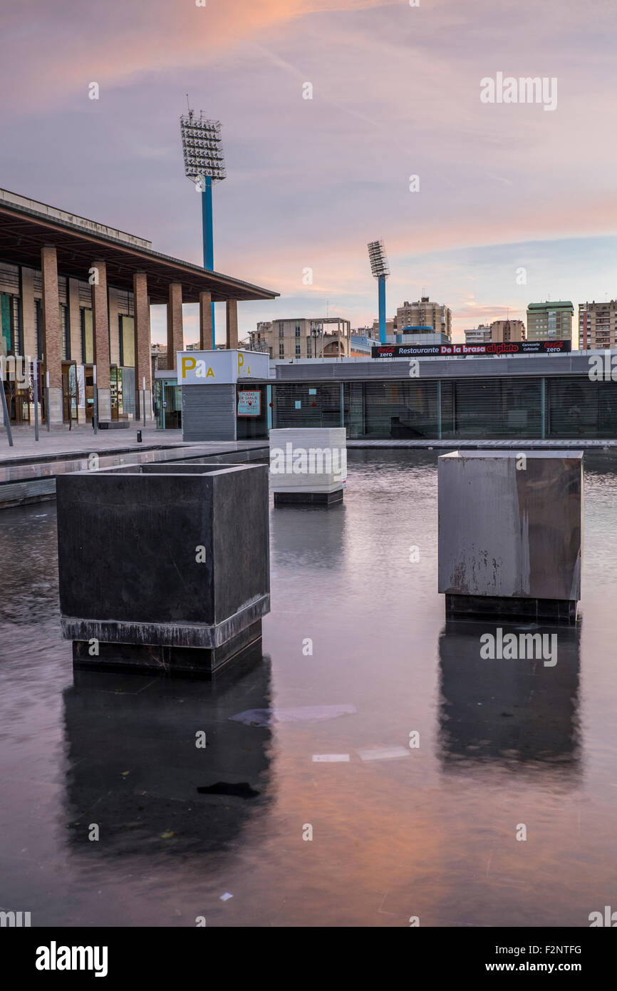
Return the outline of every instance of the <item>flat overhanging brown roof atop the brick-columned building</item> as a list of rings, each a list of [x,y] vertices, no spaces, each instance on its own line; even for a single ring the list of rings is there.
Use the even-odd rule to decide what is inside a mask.
[[[0,199],[0,262],[41,269],[41,249],[44,245],[53,245],[58,275],[87,281],[93,263],[105,262],[108,283],[132,291],[133,275],[145,272],[151,303],[168,301],[171,282],[181,282],[185,303],[198,302],[200,292],[211,292],[213,302],[274,299],[279,294],[229,275],[207,272],[190,262],[160,255],[139,244],[140,239],[132,240],[138,243]]]

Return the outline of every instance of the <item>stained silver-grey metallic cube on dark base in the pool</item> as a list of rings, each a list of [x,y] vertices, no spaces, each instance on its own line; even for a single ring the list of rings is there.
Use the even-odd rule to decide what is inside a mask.
[[[580,599],[582,452],[439,459],[439,591],[449,616],[572,622]]]

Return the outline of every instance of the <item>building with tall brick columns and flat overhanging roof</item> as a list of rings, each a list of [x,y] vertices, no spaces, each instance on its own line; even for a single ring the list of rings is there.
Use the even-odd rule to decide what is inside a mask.
[[[33,371],[38,359],[40,415],[50,424],[91,420],[95,379],[100,421],[152,417],[151,304],[167,307],[173,376],[183,302],[199,304],[199,346],[208,350],[211,303],[224,301],[227,347],[235,348],[238,303],[277,295],[0,189],[0,357],[23,358]],[[33,383],[9,378],[4,388],[12,422],[34,422]]]

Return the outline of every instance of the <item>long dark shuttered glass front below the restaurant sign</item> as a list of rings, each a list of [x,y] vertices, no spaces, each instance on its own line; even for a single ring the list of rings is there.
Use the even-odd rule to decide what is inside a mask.
[[[350,438],[617,437],[617,383],[583,376],[272,383],[273,426],[342,424]]]

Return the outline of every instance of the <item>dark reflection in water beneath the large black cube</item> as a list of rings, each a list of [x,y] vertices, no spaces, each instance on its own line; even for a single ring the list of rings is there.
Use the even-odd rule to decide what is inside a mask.
[[[270,730],[229,716],[269,705],[269,671],[260,649],[216,682],[75,671],[63,693],[71,847],[109,858],[236,845],[271,800]]]

